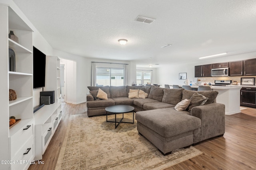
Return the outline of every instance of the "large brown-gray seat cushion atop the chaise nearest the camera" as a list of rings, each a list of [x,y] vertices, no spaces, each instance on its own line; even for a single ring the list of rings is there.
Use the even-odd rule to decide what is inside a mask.
[[[171,107],[138,111],[135,118],[162,137],[173,137],[201,127],[201,119],[186,113],[189,112],[176,111],[174,107]]]

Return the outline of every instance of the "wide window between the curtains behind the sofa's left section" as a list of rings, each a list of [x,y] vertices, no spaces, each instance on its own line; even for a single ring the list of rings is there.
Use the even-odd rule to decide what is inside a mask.
[[[124,86],[124,69],[96,67],[96,83],[98,86]]]

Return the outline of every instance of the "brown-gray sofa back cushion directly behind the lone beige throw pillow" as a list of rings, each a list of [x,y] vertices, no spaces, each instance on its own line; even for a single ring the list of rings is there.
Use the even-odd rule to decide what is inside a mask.
[[[182,91],[183,88],[171,88],[167,89],[164,88],[164,96],[162,99],[162,102],[176,105],[178,104],[182,99]]]

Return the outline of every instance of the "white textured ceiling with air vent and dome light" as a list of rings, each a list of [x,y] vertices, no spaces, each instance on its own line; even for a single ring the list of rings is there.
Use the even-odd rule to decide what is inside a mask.
[[[14,2],[54,49],[83,57],[157,67],[256,51],[256,0]],[[139,15],[156,20],[140,23]],[[128,43],[120,45],[118,39]],[[166,44],[172,46],[161,48]]]

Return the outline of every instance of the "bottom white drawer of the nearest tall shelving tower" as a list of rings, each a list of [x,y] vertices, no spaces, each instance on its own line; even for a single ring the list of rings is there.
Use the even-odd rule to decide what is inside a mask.
[[[11,170],[26,170],[33,164],[34,159],[34,138],[30,137],[28,141],[20,147],[16,156],[12,159],[14,164],[11,166]]]

